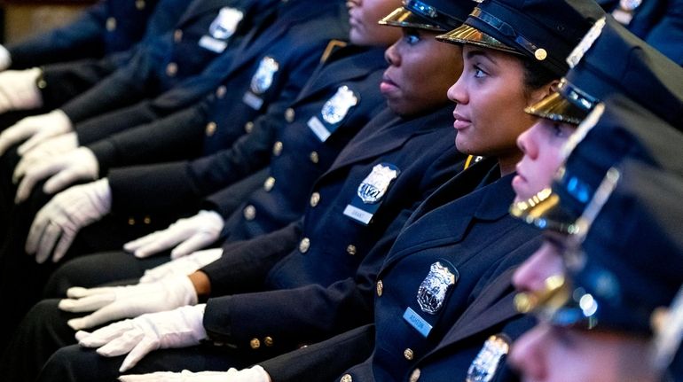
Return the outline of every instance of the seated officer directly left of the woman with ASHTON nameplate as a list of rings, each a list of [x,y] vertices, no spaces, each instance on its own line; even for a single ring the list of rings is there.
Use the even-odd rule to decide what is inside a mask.
[[[354,5],[352,10],[358,6]],[[376,3],[369,3],[368,6],[372,10],[376,7]],[[460,18],[464,18],[468,8],[452,6],[452,11]],[[357,14],[357,11],[352,11],[351,14]],[[356,23],[360,21],[359,19]],[[363,19],[364,25],[367,21]],[[446,27],[441,27],[437,21],[448,22],[445,24],[447,27],[458,25],[460,21],[453,17],[440,20],[427,19],[427,21],[427,23],[423,21],[424,24],[417,25],[420,28],[419,32],[406,33],[404,38],[387,51],[387,57],[392,64],[386,75],[392,78],[392,86],[385,86],[382,89],[388,98],[391,110],[381,113],[368,123],[340,154],[333,167],[318,179],[314,192],[311,192],[310,198],[307,198],[310,200],[310,205],[302,226],[287,227],[287,230],[275,232],[270,236],[226,246],[225,255],[221,260],[216,261],[215,266],[214,264],[209,266],[213,266],[212,269],[205,267],[202,272],[195,272],[196,274],[191,275],[190,280],[198,280],[198,289],[195,289],[185,276],[173,277],[174,281],[167,278],[153,285],[136,285],[130,287],[132,288],[130,291],[142,291],[152,286],[157,292],[145,293],[144,299],[147,302],[143,304],[139,304],[142,300],[120,295],[122,298],[113,301],[110,308],[103,308],[100,314],[90,318],[95,319],[97,316],[101,318],[112,312],[116,315],[135,316],[134,310],[137,308],[130,310],[132,305],[146,306],[145,309],[149,311],[153,305],[160,308],[156,304],[160,301],[168,309],[167,302],[169,301],[165,298],[159,299],[161,296],[159,292],[167,295],[169,292],[176,293],[177,287],[184,289],[182,292],[184,295],[197,296],[199,294],[202,297],[208,290],[200,288],[199,285],[209,286],[211,296],[249,290],[278,289],[278,291],[271,292],[233,294],[209,300],[212,307],[214,307],[213,303],[216,303],[216,310],[208,308],[205,316],[209,319],[208,317],[216,315],[214,317],[221,321],[226,317],[224,308],[232,307],[232,303],[238,300],[246,302],[246,304],[239,303],[240,308],[230,308],[232,312],[231,333],[222,329],[223,323],[208,326],[216,342],[234,343],[237,347],[237,354],[224,354],[221,360],[215,361],[223,364],[222,369],[218,370],[227,370],[231,364],[227,366],[225,364],[230,363],[231,358],[238,356],[247,360],[263,358],[266,355],[289,350],[297,343],[323,339],[325,336],[343,331],[353,325],[367,322],[369,320],[366,310],[368,307],[362,300],[347,302],[359,296],[345,285],[353,285],[351,277],[359,267],[365,267],[366,270],[363,272],[372,272],[376,268],[378,259],[371,258],[365,261],[374,243],[385,236],[386,240],[391,240],[395,235],[395,230],[400,228],[407,216],[406,211],[443,183],[452,172],[462,167],[462,156],[452,148],[451,106],[448,105],[445,96],[446,86],[459,75],[461,68],[459,52],[451,47],[444,49],[433,39],[424,37],[424,35],[433,37],[436,35],[436,30],[446,30]],[[372,30],[369,27],[363,28],[365,32]],[[442,59],[437,60],[431,57]],[[428,76],[410,75],[413,70],[422,73],[421,69],[424,67],[432,67],[435,70],[426,72]],[[439,70],[436,70],[436,67]],[[440,97],[437,96],[439,94],[441,94]],[[450,138],[444,139],[444,135]],[[278,261],[281,258],[283,260]],[[273,264],[274,261],[278,262]],[[358,272],[363,274],[361,270]],[[208,274],[212,275],[210,280],[206,277]],[[210,284],[201,284],[197,277],[203,278],[205,282],[210,281]],[[337,280],[343,280],[339,282],[341,286],[330,287],[326,290],[327,285]],[[282,290],[296,286],[300,288]],[[92,292],[93,294],[100,292],[98,293],[100,296],[106,297],[101,293],[106,291]],[[128,297],[143,296],[137,292],[124,294]],[[38,306],[32,316],[46,318],[42,313],[46,311],[51,311],[52,317],[59,316],[55,315],[55,313],[59,314],[59,311],[56,311],[56,301],[48,302],[49,304]],[[74,303],[74,301],[69,302]],[[180,305],[187,302],[184,299],[176,300],[176,303]],[[196,302],[197,299],[194,299],[194,303]],[[315,309],[318,312],[326,312],[332,316],[341,314],[344,317],[326,319],[320,316],[310,316],[306,313],[306,309],[302,310],[297,305],[300,302],[305,303],[307,308],[318,306],[319,308]],[[340,309],[340,306],[349,307],[349,303],[357,308]],[[204,315],[199,310],[204,310],[202,306],[184,307],[181,310],[187,308],[192,308],[191,310],[195,312],[192,315],[195,318]],[[243,314],[245,317],[251,316],[252,311],[257,316],[269,317],[269,319],[258,321],[247,319],[242,322],[238,318]],[[177,313],[171,312],[173,315]],[[165,316],[171,312],[161,312],[159,315]],[[139,313],[140,311],[137,311],[137,314]],[[66,331],[66,338],[62,341],[73,341],[74,331],[67,326],[65,316],[71,318],[75,315],[62,314],[61,316],[61,318],[46,319],[41,324],[58,324],[59,331]],[[274,316],[280,318],[275,319]],[[90,327],[97,324],[92,319],[75,320],[73,324],[82,323]],[[114,319],[114,316],[108,319]],[[88,321],[90,324],[87,324]],[[285,322],[287,324],[283,324]],[[253,324],[255,327],[245,326],[238,329],[241,324],[247,326]],[[41,331],[40,327],[38,325],[36,331],[38,334]],[[34,328],[28,327],[27,329],[30,331]],[[261,331],[268,331],[267,338],[258,334]],[[18,343],[27,343],[25,336],[18,336],[18,339]],[[35,343],[41,342],[39,340]],[[202,349],[209,351],[204,352]],[[196,368],[198,364],[203,364],[203,361],[198,363],[197,357],[213,359],[211,355],[213,350],[210,349],[211,347],[208,349],[192,347],[192,355],[182,356],[178,353],[178,357],[182,359],[176,360],[169,358],[169,355],[175,352],[154,352],[138,363],[137,370],[150,367],[153,363],[149,363],[147,359],[157,356],[163,358],[164,363],[175,365],[172,366],[173,369],[183,367],[183,364],[188,363],[194,363],[194,366],[185,367]],[[70,354],[73,350],[73,348],[65,348],[59,353]],[[220,353],[223,354],[228,350],[224,347]],[[198,351],[201,355],[197,353]],[[92,355],[98,357],[97,354],[89,353],[89,356]],[[59,357],[55,355],[55,360],[59,360]],[[232,361],[235,365],[245,362],[239,359]],[[59,366],[60,362],[54,361],[51,364]],[[103,365],[102,370],[110,370],[114,374],[121,366],[121,360],[110,361],[98,357],[98,362],[107,363],[109,366]],[[124,366],[128,368],[135,362],[137,361],[131,358]],[[45,378],[57,375],[62,374],[51,371],[44,373]],[[94,378],[102,377],[95,376]]]

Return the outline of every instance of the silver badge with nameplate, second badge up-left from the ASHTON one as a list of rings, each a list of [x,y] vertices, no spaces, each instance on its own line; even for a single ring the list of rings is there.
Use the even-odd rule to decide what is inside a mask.
[[[358,96],[353,90],[346,85],[340,86],[320,110],[323,121],[320,121],[317,116],[310,117],[309,128],[321,142],[325,142],[344,121],[349,110],[358,105],[358,101]]]

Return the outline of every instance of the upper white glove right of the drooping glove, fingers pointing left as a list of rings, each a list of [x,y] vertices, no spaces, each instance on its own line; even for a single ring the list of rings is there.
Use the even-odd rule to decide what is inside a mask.
[[[190,218],[179,219],[166,230],[158,230],[130,241],[123,245],[123,249],[136,257],[145,258],[177,245],[171,251],[171,259],[177,259],[215,242],[224,224],[220,214],[202,210]]]

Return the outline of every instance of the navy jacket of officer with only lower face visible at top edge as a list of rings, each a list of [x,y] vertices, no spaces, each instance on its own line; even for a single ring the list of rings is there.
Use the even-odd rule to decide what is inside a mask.
[[[338,49],[318,66],[301,94],[286,112],[266,113],[255,119],[252,131],[241,136],[230,149],[193,161],[155,166],[114,169],[110,182],[116,184],[118,204],[128,212],[154,212],[201,199],[255,171],[269,166],[266,184],[249,198],[247,209],[255,216],[237,214],[226,231],[239,226],[239,239],[252,238],[284,227],[299,218],[308,202],[310,187],[330,167],[339,152],[384,107],[379,83],[386,63],[383,48],[349,46]],[[323,142],[310,129],[309,121],[321,116],[327,101],[340,88],[352,91],[357,105]],[[279,112],[279,110],[278,110]],[[290,122],[291,121],[291,122]],[[325,122],[321,122],[325,123]],[[119,144],[113,142],[112,144]],[[174,190],[174,192],[166,192]],[[232,192],[228,192],[233,197]],[[234,203],[222,194],[211,198],[212,207]],[[232,211],[230,211],[232,212]],[[232,238],[237,239],[237,238]]]

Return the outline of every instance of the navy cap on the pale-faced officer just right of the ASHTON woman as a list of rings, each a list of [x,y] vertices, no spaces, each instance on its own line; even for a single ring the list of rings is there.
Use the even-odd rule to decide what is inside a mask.
[[[527,113],[579,123],[601,100],[618,93],[683,128],[683,68],[611,16],[596,23],[585,43],[569,56],[574,67],[558,91]]]

